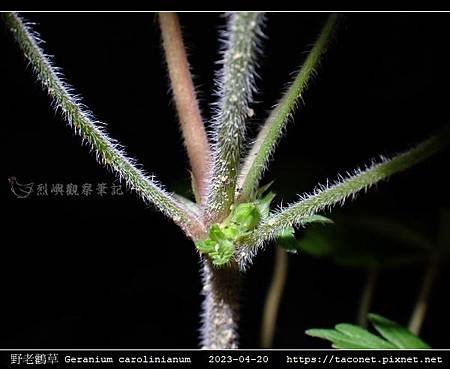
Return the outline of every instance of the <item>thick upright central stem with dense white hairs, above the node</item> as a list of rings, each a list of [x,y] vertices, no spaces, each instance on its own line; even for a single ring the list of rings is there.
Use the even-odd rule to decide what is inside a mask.
[[[206,203],[209,222],[221,221],[234,202],[237,171],[256,79],[261,13],[228,15],[223,36],[222,70],[216,82],[218,102],[212,122],[213,170]]]

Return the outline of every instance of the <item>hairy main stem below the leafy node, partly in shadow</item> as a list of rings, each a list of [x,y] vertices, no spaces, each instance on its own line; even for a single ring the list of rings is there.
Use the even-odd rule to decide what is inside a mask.
[[[237,265],[217,268],[203,258],[202,278],[201,348],[236,349],[239,346],[239,268]]]

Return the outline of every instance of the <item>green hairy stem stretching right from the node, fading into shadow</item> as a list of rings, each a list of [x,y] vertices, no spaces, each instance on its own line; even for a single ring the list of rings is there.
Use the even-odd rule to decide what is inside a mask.
[[[435,136],[419,143],[412,149],[397,154],[388,159],[380,156],[378,161],[372,161],[365,168],[358,168],[345,175],[338,175],[337,180],[330,184],[318,185],[309,194],[286,208],[279,208],[269,215],[252,233],[240,240],[236,257],[245,269],[259,248],[266,242],[276,238],[290,226],[302,226],[305,219],[322,210],[330,210],[334,205],[343,206],[348,199],[354,199],[360,191],[366,191],[376,183],[386,180],[391,175],[401,172],[420,163],[431,155],[443,149],[450,141],[450,125],[445,126]]]

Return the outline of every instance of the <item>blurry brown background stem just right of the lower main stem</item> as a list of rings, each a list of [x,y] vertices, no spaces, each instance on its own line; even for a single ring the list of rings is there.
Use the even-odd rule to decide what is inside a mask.
[[[280,307],[281,297],[288,272],[288,255],[281,247],[275,248],[275,263],[272,283],[267,292],[261,324],[261,347],[271,348]]]

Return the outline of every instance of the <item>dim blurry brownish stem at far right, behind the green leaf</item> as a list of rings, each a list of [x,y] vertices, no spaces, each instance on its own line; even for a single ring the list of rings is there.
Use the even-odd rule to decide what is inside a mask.
[[[428,307],[428,299],[430,297],[431,288],[436,280],[438,273],[438,261],[435,256],[432,256],[425,268],[422,284],[420,286],[419,295],[417,296],[416,304],[414,306],[408,328],[415,335],[420,334],[425,314]]]

